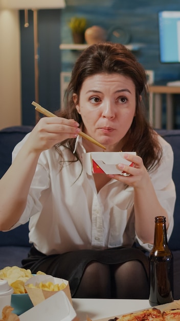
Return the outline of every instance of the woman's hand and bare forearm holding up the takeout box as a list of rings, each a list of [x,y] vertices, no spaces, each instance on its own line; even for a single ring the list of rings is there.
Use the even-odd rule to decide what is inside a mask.
[[[129,176],[108,175],[120,182],[132,186],[134,189],[134,215],[135,229],[143,243],[153,244],[154,240],[154,217],[166,216],[166,224],[169,221],[166,210],[161,206],[156,196],[148,171],[140,156],[124,154],[124,158],[134,163],[134,167],[119,164],[119,168]]]

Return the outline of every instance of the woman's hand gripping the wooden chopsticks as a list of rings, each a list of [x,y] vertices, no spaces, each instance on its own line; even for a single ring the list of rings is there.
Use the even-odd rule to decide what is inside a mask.
[[[27,142],[31,151],[42,152],[64,139],[77,137],[79,132],[79,124],[74,119],[42,117],[33,128]]]

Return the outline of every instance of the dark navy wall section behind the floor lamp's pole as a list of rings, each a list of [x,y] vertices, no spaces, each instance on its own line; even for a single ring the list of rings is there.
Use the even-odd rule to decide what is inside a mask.
[[[22,124],[35,124],[33,11],[29,10],[29,27],[25,28],[24,11],[20,11]],[[49,110],[60,106],[60,10],[38,11],[39,104]]]

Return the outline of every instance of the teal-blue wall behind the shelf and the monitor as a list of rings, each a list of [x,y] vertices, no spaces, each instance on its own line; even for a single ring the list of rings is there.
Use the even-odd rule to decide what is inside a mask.
[[[66,0],[67,7],[61,13],[61,42],[71,43],[71,31],[67,25],[71,16],[85,16],[88,26],[98,25],[106,30],[119,26],[130,33],[130,42],[144,47],[134,54],[146,69],[153,69],[155,81],[180,79],[180,65],[160,63],[158,12],[180,10],[179,0]],[[62,50],[62,68],[71,70],[75,52]]]

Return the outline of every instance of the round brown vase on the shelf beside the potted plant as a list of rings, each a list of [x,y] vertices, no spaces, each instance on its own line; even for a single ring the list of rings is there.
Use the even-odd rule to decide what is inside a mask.
[[[92,26],[85,30],[85,41],[88,45],[97,44],[107,39],[107,32],[99,26]]]

